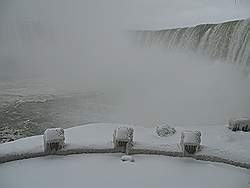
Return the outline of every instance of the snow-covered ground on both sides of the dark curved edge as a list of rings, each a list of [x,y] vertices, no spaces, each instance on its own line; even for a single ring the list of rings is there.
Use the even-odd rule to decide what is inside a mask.
[[[89,124],[65,130],[63,151],[111,150],[112,134],[119,124]],[[181,152],[183,130],[200,130],[202,150],[197,155],[216,156],[250,164],[250,133],[227,127],[175,127],[176,134],[159,137],[154,128],[134,126],[134,149]],[[99,150],[100,151],[100,150]],[[0,144],[0,159],[42,153],[43,137],[33,136]],[[80,152],[81,153],[81,152]],[[0,187],[192,187],[248,188],[250,170],[192,158],[134,155],[135,162],[122,162],[122,153],[46,156],[0,164]],[[248,166],[249,168],[249,166]]]

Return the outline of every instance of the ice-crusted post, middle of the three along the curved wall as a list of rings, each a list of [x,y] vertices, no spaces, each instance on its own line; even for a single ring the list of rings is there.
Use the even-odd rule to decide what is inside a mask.
[[[123,149],[129,154],[133,146],[134,129],[129,127],[119,127],[114,130],[113,143],[114,147]]]

